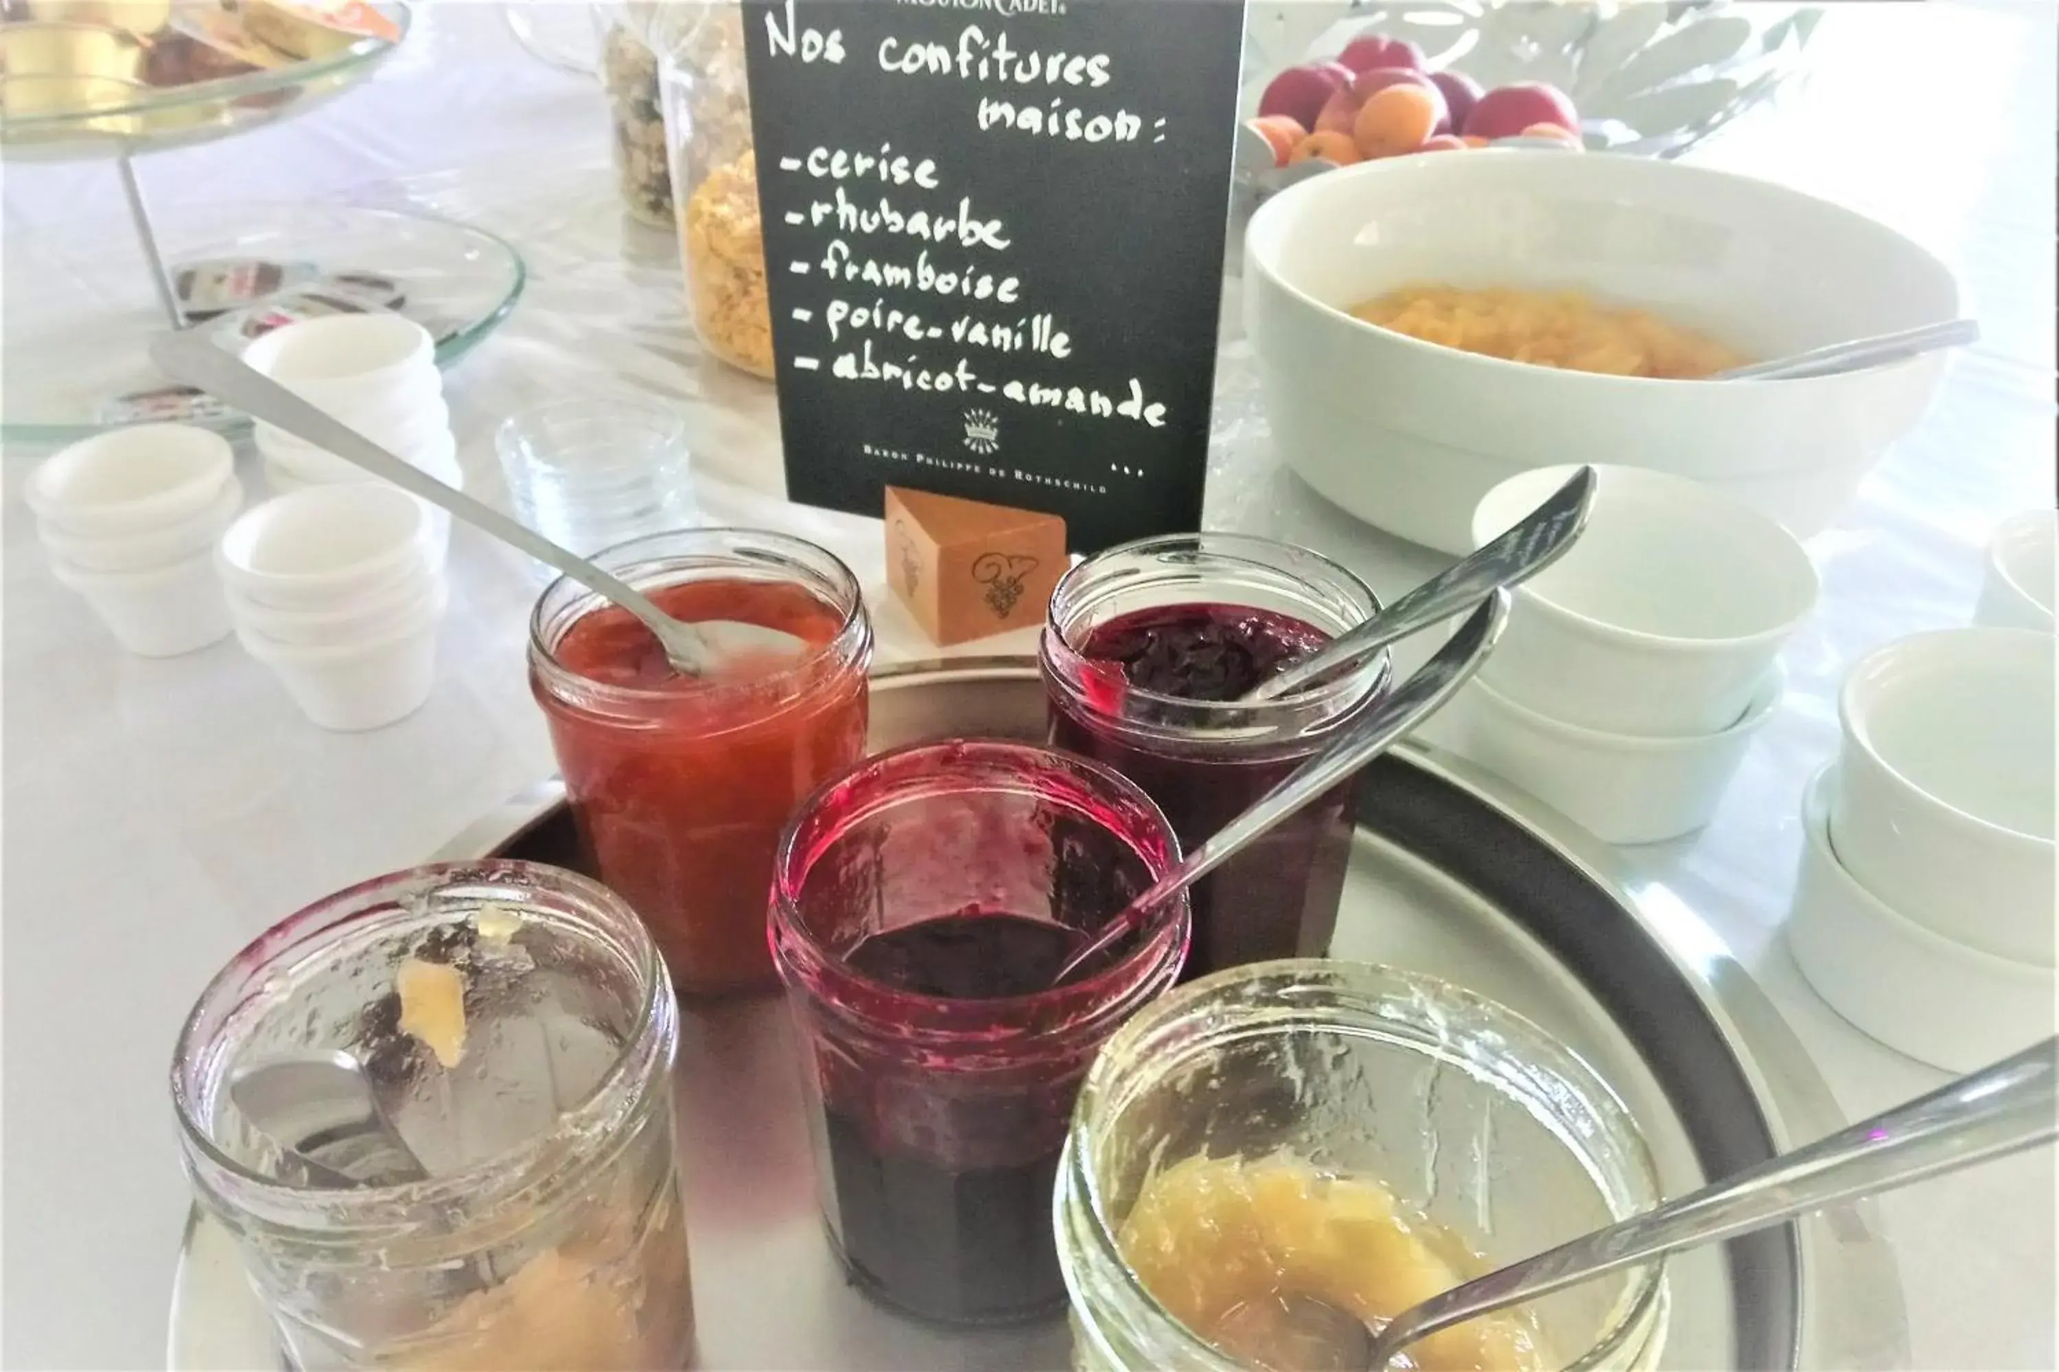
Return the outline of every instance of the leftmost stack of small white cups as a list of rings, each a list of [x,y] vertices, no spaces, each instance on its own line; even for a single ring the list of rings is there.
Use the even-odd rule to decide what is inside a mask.
[[[76,442],[27,485],[56,578],[130,652],[169,658],[229,634],[214,541],[243,508],[220,434],[140,424]]]

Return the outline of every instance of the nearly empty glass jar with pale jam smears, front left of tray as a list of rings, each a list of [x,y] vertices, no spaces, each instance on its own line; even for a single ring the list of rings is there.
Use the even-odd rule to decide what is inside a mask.
[[[288,1366],[684,1366],[677,1014],[634,911],[531,862],[379,876],[243,948],[179,1033],[171,1096]],[[336,1127],[364,1111],[331,1078],[274,1084],[264,1127],[243,1113],[251,1070],[331,1053],[418,1168]]]

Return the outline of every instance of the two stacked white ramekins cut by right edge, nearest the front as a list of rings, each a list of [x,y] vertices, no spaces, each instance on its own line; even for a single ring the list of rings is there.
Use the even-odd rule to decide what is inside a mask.
[[[1787,946],[1833,1010],[1948,1072],[2053,1033],[2053,636],[1944,629],[1845,679]]]

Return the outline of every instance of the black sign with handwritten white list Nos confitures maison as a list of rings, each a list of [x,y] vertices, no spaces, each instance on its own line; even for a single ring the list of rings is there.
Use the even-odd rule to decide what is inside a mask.
[[[745,0],[787,494],[1200,527],[1242,0]]]

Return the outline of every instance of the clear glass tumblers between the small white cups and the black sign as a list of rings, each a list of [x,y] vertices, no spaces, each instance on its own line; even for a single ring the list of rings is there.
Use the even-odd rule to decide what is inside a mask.
[[[696,522],[686,420],[632,397],[523,409],[494,434],[515,518],[581,557]]]

